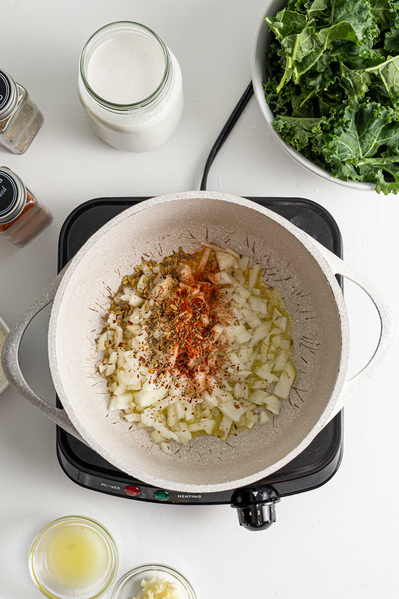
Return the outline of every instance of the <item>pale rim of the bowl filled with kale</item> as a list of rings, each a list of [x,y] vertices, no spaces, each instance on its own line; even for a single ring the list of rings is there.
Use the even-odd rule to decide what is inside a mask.
[[[267,5],[270,6],[272,4],[271,1],[267,2]],[[264,53],[264,44],[263,44],[263,34],[264,29],[266,29],[266,23],[264,19],[270,16],[270,9],[267,8],[263,17],[257,26],[254,45],[252,47],[252,60],[251,60],[251,74],[252,74],[252,85],[254,86],[255,98],[259,107],[259,110],[264,116],[264,120],[266,120],[267,127],[272,134],[273,138],[279,143],[279,145],[287,152],[291,158],[293,158],[296,162],[306,168],[308,171],[318,175],[319,177],[323,177],[330,183],[338,183],[345,187],[351,187],[352,189],[357,189],[358,191],[374,191],[375,185],[373,183],[367,183],[364,181],[343,181],[343,179],[336,179],[333,177],[328,171],[325,171],[323,168],[318,167],[308,158],[305,158],[300,152],[290,146],[281,135],[276,131],[273,127],[273,123],[275,122],[275,117],[273,116],[272,110],[270,110],[269,104],[266,102],[266,98],[264,97],[262,78],[263,78],[263,66],[262,66],[262,53]]]

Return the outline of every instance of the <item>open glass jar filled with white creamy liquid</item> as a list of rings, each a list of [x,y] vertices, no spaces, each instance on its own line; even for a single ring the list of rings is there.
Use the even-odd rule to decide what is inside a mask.
[[[151,29],[130,21],[105,25],[87,41],[78,92],[96,134],[129,152],[165,143],[183,111],[175,55]]]

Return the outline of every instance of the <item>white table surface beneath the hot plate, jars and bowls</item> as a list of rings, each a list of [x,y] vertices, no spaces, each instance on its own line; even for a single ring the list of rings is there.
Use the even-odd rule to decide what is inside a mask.
[[[66,216],[98,196],[197,189],[209,149],[248,84],[262,0],[4,0],[1,68],[25,85],[45,116],[28,152],[0,150],[53,211],[54,222],[25,249],[0,239],[0,314],[12,325],[56,274]],[[106,146],[90,130],[77,95],[78,58],[105,23],[153,28],[181,63],[185,110],[175,135],[154,152]],[[208,188],[237,195],[301,196],[337,220],[345,260],[392,302],[398,294],[398,200],[358,192],[304,171],[272,140],[252,98],[212,167]],[[345,288],[352,328],[351,372],[378,335],[370,300]],[[47,362],[49,310],[26,333],[23,371],[53,401]],[[51,519],[78,513],[114,535],[123,574],[143,562],[180,569],[199,599],[394,597],[397,570],[398,345],[345,410],[344,455],[315,491],[285,498],[268,531],[240,528],[228,506],[178,507],[125,501],[80,488],[61,470],[55,426],[11,388],[0,399],[0,598],[39,598],[27,556]],[[328,365],[326,365],[328,367]],[[106,595],[109,597],[109,595]]]

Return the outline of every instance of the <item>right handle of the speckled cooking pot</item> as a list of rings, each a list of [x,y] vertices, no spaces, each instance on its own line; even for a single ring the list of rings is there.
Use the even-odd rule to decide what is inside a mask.
[[[376,286],[352,270],[352,268],[346,265],[345,262],[343,262],[329,250],[325,249],[325,247],[319,244],[317,241],[312,241],[317,245],[334,274],[340,274],[343,277],[346,277],[346,279],[356,283],[356,285],[366,292],[376,307],[381,322],[380,338],[373,356],[371,356],[366,366],[362,368],[360,372],[355,374],[352,379],[349,379],[344,383],[339,404],[335,407],[333,414],[329,418],[329,420],[331,420],[337,415],[337,413],[340,412],[340,410],[342,410],[349,397],[351,397],[351,395],[356,391],[358,385],[360,385],[362,381],[366,380],[379,366],[383,356],[388,352],[388,349],[392,344],[392,340],[396,332],[397,319],[391,304],[386,301],[385,297],[383,297],[382,293],[376,288]]]

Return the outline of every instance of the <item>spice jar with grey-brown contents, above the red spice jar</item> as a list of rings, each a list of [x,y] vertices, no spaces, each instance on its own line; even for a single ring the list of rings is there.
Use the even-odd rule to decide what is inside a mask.
[[[43,122],[43,115],[25,87],[0,71],[0,145],[23,154]]]

